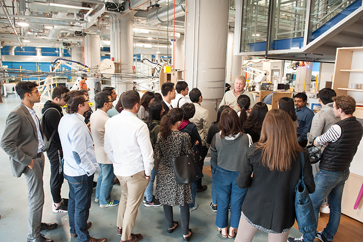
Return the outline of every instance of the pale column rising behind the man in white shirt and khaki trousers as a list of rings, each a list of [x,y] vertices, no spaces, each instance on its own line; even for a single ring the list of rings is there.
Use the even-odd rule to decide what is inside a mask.
[[[117,17],[112,15],[110,24],[110,40],[111,40],[111,57],[114,58],[115,63],[120,63],[120,73],[132,74],[133,66],[133,31],[132,31],[132,18],[133,12],[130,12],[120,19],[115,20]],[[125,84],[124,81],[130,83]],[[113,78],[111,85],[115,86],[116,92],[121,95],[126,90],[132,90],[132,80],[130,77],[125,77],[121,80],[121,76]]]

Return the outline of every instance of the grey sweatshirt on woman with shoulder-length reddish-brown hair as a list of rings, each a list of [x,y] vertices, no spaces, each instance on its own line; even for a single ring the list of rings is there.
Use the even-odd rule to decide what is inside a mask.
[[[235,139],[222,139],[220,133],[216,133],[210,144],[210,156],[221,168],[240,171],[248,145],[247,134],[240,133]]]

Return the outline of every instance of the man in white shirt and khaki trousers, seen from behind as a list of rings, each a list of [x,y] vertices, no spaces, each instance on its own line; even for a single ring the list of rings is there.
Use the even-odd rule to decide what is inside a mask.
[[[117,234],[122,235],[121,242],[137,242],[142,235],[131,231],[154,166],[153,147],[148,126],[136,116],[140,109],[139,93],[126,91],[121,102],[121,114],[105,124],[104,148],[122,189]]]

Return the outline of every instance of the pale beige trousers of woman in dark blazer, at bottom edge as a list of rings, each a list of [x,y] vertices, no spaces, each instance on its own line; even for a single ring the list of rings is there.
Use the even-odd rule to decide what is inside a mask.
[[[238,225],[238,233],[235,242],[251,242],[257,230],[257,228],[247,222],[244,218],[243,212],[241,212],[241,219],[240,224]],[[269,242],[286,242],[287,237],[288,231],[280,234],[269,233]]]

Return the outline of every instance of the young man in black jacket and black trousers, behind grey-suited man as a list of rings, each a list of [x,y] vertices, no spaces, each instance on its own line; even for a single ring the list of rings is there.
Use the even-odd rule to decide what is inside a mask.
[[[52,100],[46,101],[41,110],[43,114],[42,124],[46,138],[49,140],[53,131],[55,131],[49,145],[49,150],[46,152],[50,162],[50,193],[53,197],[52,210],[54,213],[68,211],[68,199],[62,199],[60,195],[64,178],[62,167],[63,151],[58,134],[58,124],[63,117],[61,107],[66,105],[62,94],[66,92],[69,92],[67,87],[56,86],[53,89]]]

